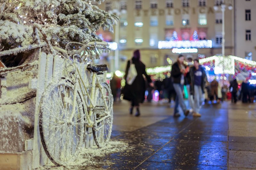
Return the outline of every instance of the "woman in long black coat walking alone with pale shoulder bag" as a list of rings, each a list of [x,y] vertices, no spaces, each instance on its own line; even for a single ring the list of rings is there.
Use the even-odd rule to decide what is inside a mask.
[[[126,70],[125,70],[125,80],[128,75],[128,71],[130,68],[130,60],[127,62]],[[146,91],[146,82],[143,75],[146,77],[148,83],[151,83],[150,76],[146,73],[146,66],[140,61],[140,51],[135,50],[132,57],[132,63],[135,64],[135,68],[137,71],[137,76],[134,79],[132,85],[128,85],[125,82],[125,86],[123,89],[123,99],[131,101],[130,114],[132,115],[133,107],[136,107],[135,116],[140,116],[139,103],[143,103],[145,99],[145,91]],[[150,84],[152,86],[152,84]]]

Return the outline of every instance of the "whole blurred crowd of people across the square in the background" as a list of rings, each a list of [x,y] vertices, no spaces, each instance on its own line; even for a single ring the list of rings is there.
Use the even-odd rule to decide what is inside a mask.
[[[137,70],[134,82],[125,83],[122,87],[121,80],[127,79],[132,65]],[[251,85],[248,79],[243,82],[238,82],[236,78],[230,82],[223,79],[219,82],[216,79],[208,82],[205,69],[199,61],[192,60],[192,58],[187,58],[185,61],[183,55],[180,55],[177,62],[172,65],[170,77],[152,80],[146,74],[145,65],[140,61],[139,50],[136,50],[132,59],[128,61],[124,78],[119,78],[114,74],[110,86],[114,101],[120,101],[120,97],[131,101],[130,114],[132,115],[133,107],[136,107],[135,116],[140,115],[139,103],[144,100],[169,103],[173,100],[175,101],[174,117],[180,116],[178,106],[182,108],[184,115],[187,116],[192,112],[193,116],[200,117],[199,110],[203,102],[210,104],[231,100],[232,103],[236,103],[241,100],[243,103],[252,103],[255,102],[256,97],[256,86]],[[188,99],[188,106],[185,106],[184,98]]]

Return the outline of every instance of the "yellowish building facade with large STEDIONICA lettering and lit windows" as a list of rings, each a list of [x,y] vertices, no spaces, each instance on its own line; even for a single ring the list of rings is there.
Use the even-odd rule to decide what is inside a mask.
[[[106,0],[99,8],[119,15],[116,27],[118,65],[124,70],[126,60],[132,57],[135,49],[140,49],[141,59],[147,67],[168,65],[167,59],[176,61],[180,52],[192,58],[221,55],[222,3],[222,0]],[[234,5],[233,1],[229,3]],[[219,8],[215,11],[214,6]],[[233,10],[225,11],[225,32],[225,55],[234,55]],[[115,33],[107,36],[115,40]],[[196,46],[190,51],[180,51],[158,46],[159,41],[189,41],[193,44],[193,41],[203,40],[210,40],[211,48]]]

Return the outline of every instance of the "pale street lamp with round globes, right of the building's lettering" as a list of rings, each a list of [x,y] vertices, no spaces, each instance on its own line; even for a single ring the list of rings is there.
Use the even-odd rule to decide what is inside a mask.
[[[224,14],[225,14],[226,7],[228,7],[228,10],[231,11],[233,9],[233,6],[231,5],[232,0],[226,0],[226,1],[223,0],[223,1],[224,2],[220,5],[220,7],[222,11],[222,55],[224,56],[225,55],[225,15]],[[218,11],[219,7],[214,5],[213,9],[215,11]]]

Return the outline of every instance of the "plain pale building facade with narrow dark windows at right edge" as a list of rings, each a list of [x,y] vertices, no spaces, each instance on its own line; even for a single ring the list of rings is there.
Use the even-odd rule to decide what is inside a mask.
[[[235,55],[256,61],[256,1],[234,0]]]

